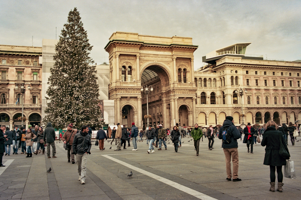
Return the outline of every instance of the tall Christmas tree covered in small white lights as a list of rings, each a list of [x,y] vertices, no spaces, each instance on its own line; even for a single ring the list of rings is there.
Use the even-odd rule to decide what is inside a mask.
[[[77,128],[86,124],[98,127],[104,123],[98,106],[95,66],[89,65],[94,63],[89,57],[91,49],[87,31],[74,8],[55,46],[55,63],[46,92],[45,124],[51,121],[54,127],[63,129],[70,123]]]

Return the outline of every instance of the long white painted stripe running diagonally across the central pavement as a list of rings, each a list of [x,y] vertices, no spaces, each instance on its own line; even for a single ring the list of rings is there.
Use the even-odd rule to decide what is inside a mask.
[[[206,195],[206,194],[200,193],[200,192],[198,192],[198,191],[196,191],[196,190],[192,190],[192,189],[189,188],[189,187],[186,187],[186,186],[184,186],[184,185],[178,184],[178,183],[176,183],[176,182],[174,182],[174,181],[170,181],[170,180],[168,180],[168,179],[166,179],[166,178],[160,177],[160,176],[155,175],[155,174],[153,174],[153,173],[151,173],[151,172],[147,172],[147,171],[145,171],[145,170],[143,170],[143,169],[140,169],[140,168],[138,168],[138,167],[132,166],[132,165],[130,165],[130,164],[126,163],[126,162],[123,162],[123,161],[121,161],[121,160],[118,160],[118,159],[116,159],[116,158],[110,157],[110,156],[108,156],[108,155],[102,155],[102,156],[103,156],[103,157],[106,157],[106,158],[108,158],[108,159],[110,159],[110,160],[113,160],[113,161],[115,161],[116,163],[119,163],[119,164],[121,164],[121,165],[123,165],[123,166],[126,166],[126,167],[128,167],[128,168],[130,168],[130,169],[132,169],[132,170],[135,170],[135,171],[137,171],[137,172],[140,172],[141,174],[144,174],[144,175],[147,175],[147,176],[149,176],[149,177],[151,177],[151,178],[154,178],[154,179],[156,179],[157,181],[160,181],[160,182],[162,182],[162,183],[164,183],[164,184],[170,185],[171,187],[174,187],[174,188],[176,188],[176,189],[178,189],[178,190],[181,190],[181,191],[183,191],[183,192],[185,192],[185,193],[187,193],[187,194],[190,194],[190,195],[192,195],[192,196],[195,196],[195,197],[197,197],[198,199],[202,199],[202,200],[217,200],[217,199],[215,199],[215,198],[213,198],[213,197],[211,197],[211,196],[208,196],[208,195]]]

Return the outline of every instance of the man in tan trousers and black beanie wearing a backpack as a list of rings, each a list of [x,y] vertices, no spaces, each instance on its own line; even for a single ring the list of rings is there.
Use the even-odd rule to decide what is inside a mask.
[[[240,138],[239,130],[233,124],[233,117],[227,116],[219,130],[219,139],[222,139],[222,148],[226,157],[227,181],[241,181],[238,178],[238,144]],[[231,173],[231,157],[233,163],[233,174]]]

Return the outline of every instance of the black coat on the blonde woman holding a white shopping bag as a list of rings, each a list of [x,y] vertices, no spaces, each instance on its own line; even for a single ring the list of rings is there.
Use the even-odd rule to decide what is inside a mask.
[[[286,160],[279,154],[280,142],[282,142],[286,151],[289,152],[283,134],[280,131],[276,130],[274,126],[268,127],[265,130],[261,141],[261,145],[263,147],[266,146],[265,157],[263,161],[264,165],[286,165]]]

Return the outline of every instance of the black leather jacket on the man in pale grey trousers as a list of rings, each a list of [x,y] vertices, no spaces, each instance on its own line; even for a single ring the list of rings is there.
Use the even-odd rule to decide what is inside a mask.
[[[72,143],[72,148],[73,148],[72,154],[85,154],[86,152],[88,154],[91,154],[90,153],[91,146],[92,146],[91,136],[88,133],[83,133],[82,131],[80,131],[79,133],[76,133],[74,136],[73,143]]]

